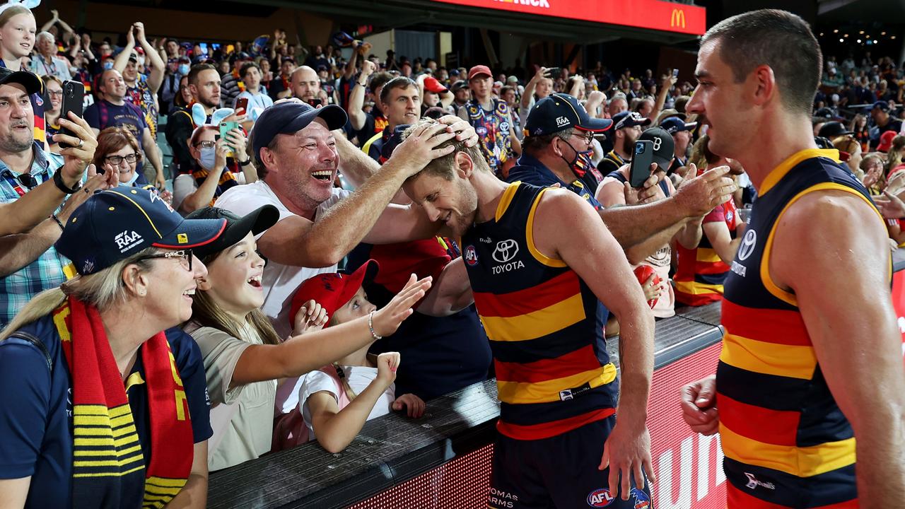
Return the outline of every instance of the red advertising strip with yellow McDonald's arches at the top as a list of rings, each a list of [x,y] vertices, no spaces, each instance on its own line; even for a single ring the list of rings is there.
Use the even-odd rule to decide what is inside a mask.
[[[631,0],[629,2],[625,0],[433,0],[433,2],[634,26],[680,34],[702,35],[707,30],[704,7],[662,0]]]

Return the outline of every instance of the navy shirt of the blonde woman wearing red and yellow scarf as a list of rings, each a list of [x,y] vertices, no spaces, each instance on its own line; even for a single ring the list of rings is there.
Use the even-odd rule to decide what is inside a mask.
[[[0,342],[0,479],[31,476],[26,508],[71,507],[72,491],[72,403],[71,379],[60,337],[52,316],[24,326],[43,341],[50,353],[52,369],[33,344],[10,338]],[[186,332],[167,330],[167,341],[186,389],[195,443],[213,435],[210,402],[201,351]],[[138,440],[150,461],[150,415],[141,349],[129,373],[129,407]],[[134,376],[140,375],[140,379]]]

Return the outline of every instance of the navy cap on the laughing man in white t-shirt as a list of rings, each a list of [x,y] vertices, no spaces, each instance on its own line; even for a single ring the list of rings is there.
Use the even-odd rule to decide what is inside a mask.
[[[327,122],[327,129],[338,130],[346,125],[346,110],[336,104],[314,108],[300,101],[285,101],[263,110],[252,127],[253,156],[260,157],[261,149],[271,144],[278,134],[293,134],[308,126],[314,119]]]

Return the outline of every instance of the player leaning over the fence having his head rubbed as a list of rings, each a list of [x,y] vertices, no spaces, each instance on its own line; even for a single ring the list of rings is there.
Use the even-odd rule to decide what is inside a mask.
[[[433,120],[421,120],[409,137],[432,128]],[[478,149],[442,146],[454,151],[403,188],[445,233],[462,237],[491,340],[500,437],[488,506],[571,508],[595,500],[621,509],[649,502],[643,473],[654,481],[645,424],[653,317],[622,248],[574,192],[508,184]],[[596,337],[598,299],[624,322],[621,382]]]

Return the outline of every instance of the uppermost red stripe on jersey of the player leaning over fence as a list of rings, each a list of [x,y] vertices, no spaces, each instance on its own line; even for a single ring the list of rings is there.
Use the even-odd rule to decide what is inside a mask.
[[[474,293],[474,303],[481,316],[510,318],[536,312],[581,293],[578,274],[567,271],[518,292]]]

